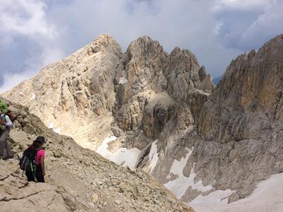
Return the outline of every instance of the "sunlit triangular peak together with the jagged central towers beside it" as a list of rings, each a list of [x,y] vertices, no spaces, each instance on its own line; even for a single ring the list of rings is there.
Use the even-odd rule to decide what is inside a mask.
[[[132,136],[143,132],[149,140],[133,146],[144,148],[181,107],[190,113],[189,95],[212,88],[211,76],[189,50],[176,47],[168,54],[144,36],[122,54],[110,35],[100,35],[2,96],[30,107],[47,126],[84,147],[96,149],[117,125]]]

